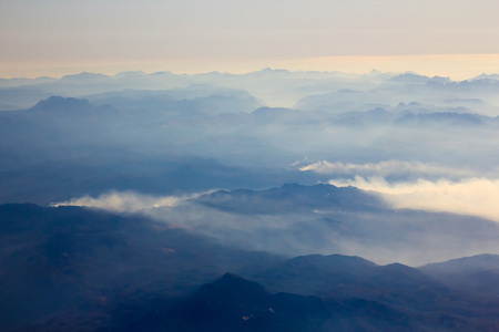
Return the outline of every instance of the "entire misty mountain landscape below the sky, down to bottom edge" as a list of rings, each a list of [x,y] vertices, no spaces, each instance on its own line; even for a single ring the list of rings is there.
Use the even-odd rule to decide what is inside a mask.
[[[1,330],[498,330],[498,92],[0,80]]]

